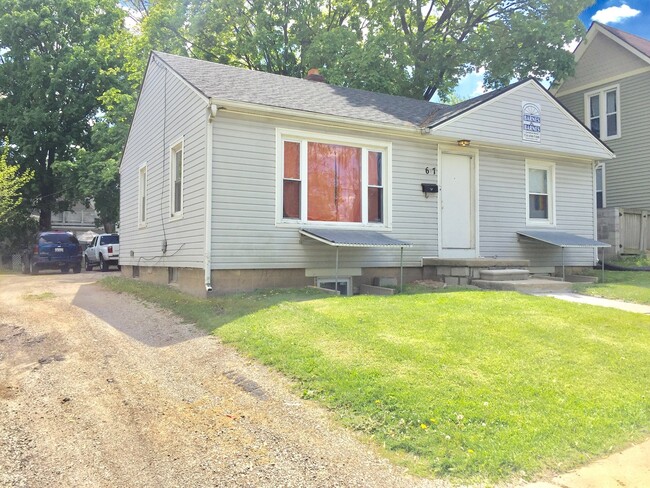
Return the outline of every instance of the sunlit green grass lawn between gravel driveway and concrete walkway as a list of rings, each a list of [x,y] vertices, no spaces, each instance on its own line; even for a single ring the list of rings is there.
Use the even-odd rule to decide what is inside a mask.
[[[514,292],[201,300],[109,278],[294,379],[414,473],[566,471],[650,433],[650,317]]]

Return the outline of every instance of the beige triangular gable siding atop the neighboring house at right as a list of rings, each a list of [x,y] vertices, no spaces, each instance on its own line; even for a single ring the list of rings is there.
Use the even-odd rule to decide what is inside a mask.
[[[574,75],[562,81],[556,96],[561,98],[568,91],[592,85],[598,80],[620,78],[624,73],[647,67],[647,63],[638,56],[603,34],[598,34],[576,64]]]

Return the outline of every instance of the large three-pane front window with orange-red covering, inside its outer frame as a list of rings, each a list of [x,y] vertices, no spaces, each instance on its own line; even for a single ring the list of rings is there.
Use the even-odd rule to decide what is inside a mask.
[[[282,220],[385,224],[388,148],[281,138]]]

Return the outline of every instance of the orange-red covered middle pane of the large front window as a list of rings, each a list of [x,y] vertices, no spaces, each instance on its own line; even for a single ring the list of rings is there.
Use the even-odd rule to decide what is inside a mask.
[[[307,218],[361,222],[361,148],[308,143]]]

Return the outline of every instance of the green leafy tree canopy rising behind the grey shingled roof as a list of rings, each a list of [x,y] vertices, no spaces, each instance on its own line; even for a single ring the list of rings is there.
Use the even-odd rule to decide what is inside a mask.
[[[138,2],[139,3],[139,2]],[[485,85],[563,77],[591,0],[157,0],[142,34],[168,52],[429,99],[467,73]]]

